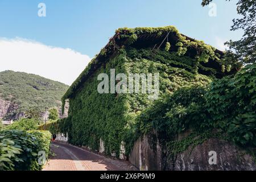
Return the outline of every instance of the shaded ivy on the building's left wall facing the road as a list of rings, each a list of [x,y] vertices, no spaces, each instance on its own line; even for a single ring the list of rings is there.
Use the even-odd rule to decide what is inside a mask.
[[[97,76],[99,73],[110,74],[110,69],[115,72],[126,72],[122,67],[125,57],[121,54],[109,61],[105,68],[101,67],[92,77],[85,82],[83,89],[70,98],[69,115],[66,119],[69,127],[69,142],[79,146],[90,146],[93,150],[99,149],[100,138],[105,142],[107,154],[118,154],[123,140],[123,127],[126,121],[123,117],[125,96],[115,94],[99,94],[97,91]],[[72,114],[71,114],[72,113]],[[63,132],[63,133],[66,133]]]

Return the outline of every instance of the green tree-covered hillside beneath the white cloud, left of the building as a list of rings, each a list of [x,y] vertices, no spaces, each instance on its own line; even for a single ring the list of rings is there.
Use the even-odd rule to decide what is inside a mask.
[[[38,75],[0,72],[0,98],[18,105],[17,110],[8,114],[20,113],[34,106],[42,111],[45,107],[59,107],[67,89],[68,85]]]

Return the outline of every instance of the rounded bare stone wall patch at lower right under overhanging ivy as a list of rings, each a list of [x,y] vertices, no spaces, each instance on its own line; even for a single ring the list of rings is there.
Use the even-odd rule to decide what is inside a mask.
[[[210,151],[217,154],[217,163],[209,164]],[[179,154],[170,170],[175,171],[243,171],[256,170],[253,158],[246,155],[245,151],[238,149],[233,144],[212,138],[195,148],[189,147],[188,150]]]

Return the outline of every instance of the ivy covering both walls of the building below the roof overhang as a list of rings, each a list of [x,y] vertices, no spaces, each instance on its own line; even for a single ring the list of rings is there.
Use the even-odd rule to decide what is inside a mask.
[[[177,56],[174,52],[155,50],[151,54],[150,49],[122,49],[88,77],[79,92],[69,98],[69,117],[47,123],[47,130],[58,133],[62,128],[61,133],[68,133],[70,143],[89,146],[93,150],[99,149],[101,138],[106,154],[119,154],[120,144],[124,141],[129,154],[137,135],[135,118],[153,101],[148,100],[148,94],[99,94],[98,74],[110,74],[112,68],[115,68],[116,74],[159,72],[161,96],[172,94],[185,85],[209,84],[212,78],[196,72],[196,61],[191,57]],[[43,128],[41,125],[40,129]]]

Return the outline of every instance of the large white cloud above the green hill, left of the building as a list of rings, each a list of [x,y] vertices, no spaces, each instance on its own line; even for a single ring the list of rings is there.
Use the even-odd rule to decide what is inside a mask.
[[[89,61],[89,56],[69,48],[46,46],[21,38],[0,38],[0,72],[33,73],[71,85]]]

